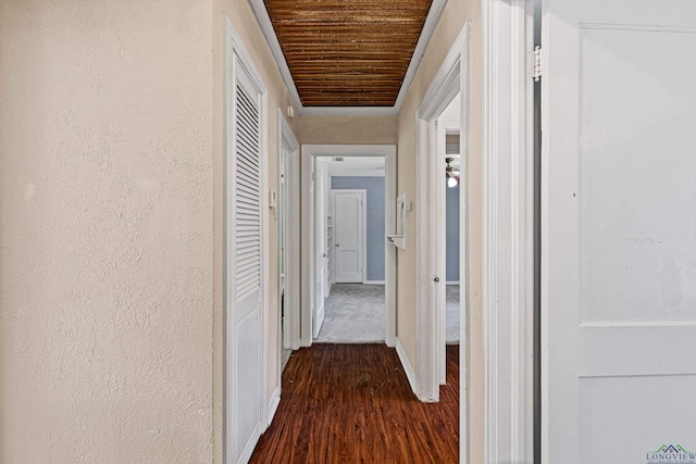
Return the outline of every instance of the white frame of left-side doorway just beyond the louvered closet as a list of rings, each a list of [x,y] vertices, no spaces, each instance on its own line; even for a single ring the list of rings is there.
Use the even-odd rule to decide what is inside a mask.
[[[281,174],[285,174],[285,319],[281,314],[281,294],[278,292],[278,337],[284,335],[284,339],[278,338],[278,360],[281,359],[281,349],[297,350],[300,348],[300,252],[299,252],[299,204],[297,201],[290,201],[293,192],[299,192],[299,153],[300,143],[295,137],[293,128],[288,124],[283,111],[278,109],[278,186],[281,185]],[[283,150],[286,150],[284,153]],[[282,160],[284,158],[284,160]],[[284,166],[281,173],[279,166]],[[279,205],[278,205],[279,211]],[[278,250],[281,250],[281,221],[278,218]],[[288,272],[288,266],[293,264],[294,272]],[[278,266],[278,281],[281,279],[281,268]],[[281,325],[283,325],[281,327]],[[282,328],[282,330],[281,330]],[[278,363],[278,388],[281,386],[281,363]]]

